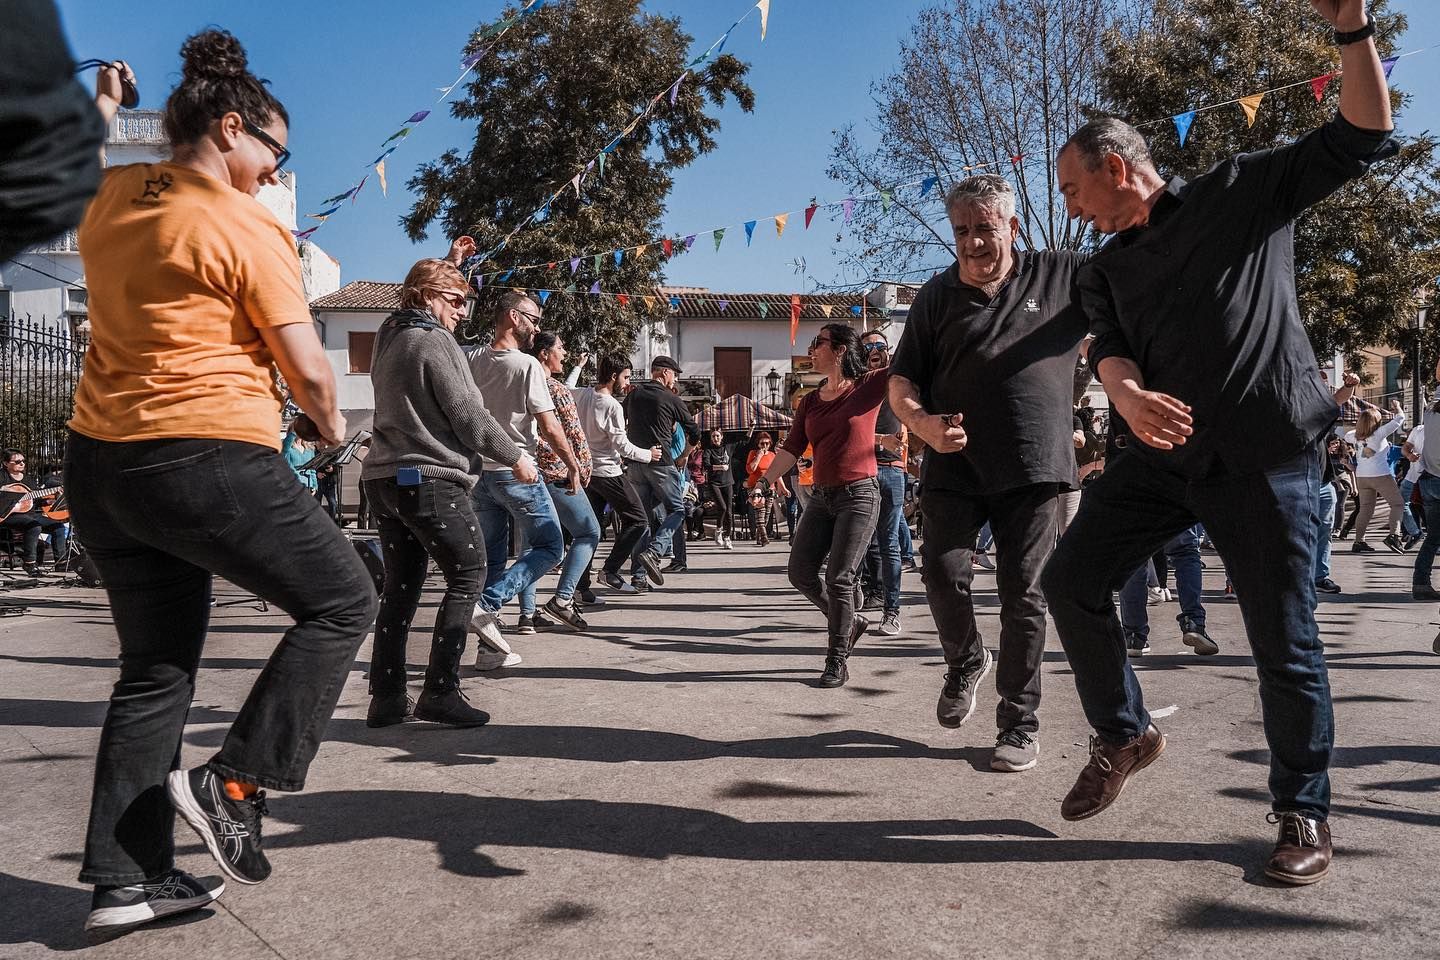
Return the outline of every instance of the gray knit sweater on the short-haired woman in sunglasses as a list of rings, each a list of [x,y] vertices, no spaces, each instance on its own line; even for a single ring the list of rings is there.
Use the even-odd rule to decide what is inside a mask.
[[[521,450],[485,409],[465,356],[448,330],[418,309],[392,314],[374,337],[374,439],[361,479],[400,466],[474,489],[472,455],[513,465]]]

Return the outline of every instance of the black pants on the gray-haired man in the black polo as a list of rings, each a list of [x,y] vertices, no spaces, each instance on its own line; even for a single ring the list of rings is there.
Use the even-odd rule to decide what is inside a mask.
[[[989,497],[927,486],[924,512],[924,597],[952,671],[982,662],[975,625],[971,556],[989,521],[995,534],[995,586],[999,590],[999,656],[995,658],[995,724],[1001,730],[1040,730],[1040,665],[1045,653],[1045,599],[1040,571],[1056,544],[1056,484],[1032,484]]]

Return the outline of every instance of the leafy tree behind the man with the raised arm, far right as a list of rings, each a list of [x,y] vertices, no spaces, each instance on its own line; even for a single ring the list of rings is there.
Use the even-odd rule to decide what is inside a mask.
[[[1405,17],[1388,0],[1369,6],[1377,46],[1381,56],[1391,56]],[[1333,69],[1339,69],[1339,52],[1331,27],[1306,0],[1156,0],[1142,30],[1107,37],[1099,102],[1103,112],[1146,124],[1142,132],[1162,173],[1194,177],[1233,154],[1290,142],[1333,117],[1342,79],[1335,78],[1320,102],[1303,83]],[[1418,58],[1400,60],[1392,81],[1404,82],[1411,69],[1421,69]],[[1297,81],[1299,86],[1261,101],[1253,127],[1238,105],[1201,112],[1181,147],[1166,119]],[[1408,95],[1391,91],[1398,115]],[[1299,219],[1297,292],[1318,356],[1381,343],[1408,345],[1405,328],[1416,315],[1417,291],[1434,301],[1440,275],[1436,148],[1428,134],[1404,138],[1400,155],[1375,164]],[[1426,354],[1433,358],[1440,331],[1427,335]]]

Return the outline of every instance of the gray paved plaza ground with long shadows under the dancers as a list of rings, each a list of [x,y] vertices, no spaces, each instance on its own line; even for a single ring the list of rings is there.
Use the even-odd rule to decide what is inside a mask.
[[[274,877],[89,954],[1440,957],[1437,617],[1408,600],[1408,557],[1336,554],[1348,593],[1319,610],[1336,859],[1299,889],[1259,869],[1274,839],[1267,754],[1212,556],[1221,653],[1192,655],[1175,604],[1151,607],[1139,669],[1169,747],[1083,823],[1060,819],[1087,730],[1053,630],[1041,764],[992,773],[994,675],[963,728],[935,723],[943,664],[919,574],[904,633],[867,636],[850,684],[819,689],[819,616],[785,558],[783,543],[697,545],[690,574],[612,597],[590,633],[514,639],[523,665],[465,681],[494,715],[481,730],[367,730],[366,643],[305,792],[271,797]],[[994,648],[994,574],[976,593]],[[0,619],[0,959],[86,948],[75,874],[117,649],[101,592],[6,599],[30,615]],[[187,766],[213,753],[287,626],[278,610],[216,610]],[[177,829],[180,865],[217,872]]]

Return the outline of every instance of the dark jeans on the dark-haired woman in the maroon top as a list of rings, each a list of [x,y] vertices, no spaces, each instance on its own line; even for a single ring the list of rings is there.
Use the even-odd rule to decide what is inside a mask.
[[[791,541],[791,583],[825,615],[831,649],[837,645],[845,649],[860,612],[857,570],[876,533],[878,514],[880,485],[874,476],[844,486],[816,485]],[[819,579],[821,564],[825,566],[824,580]]]

